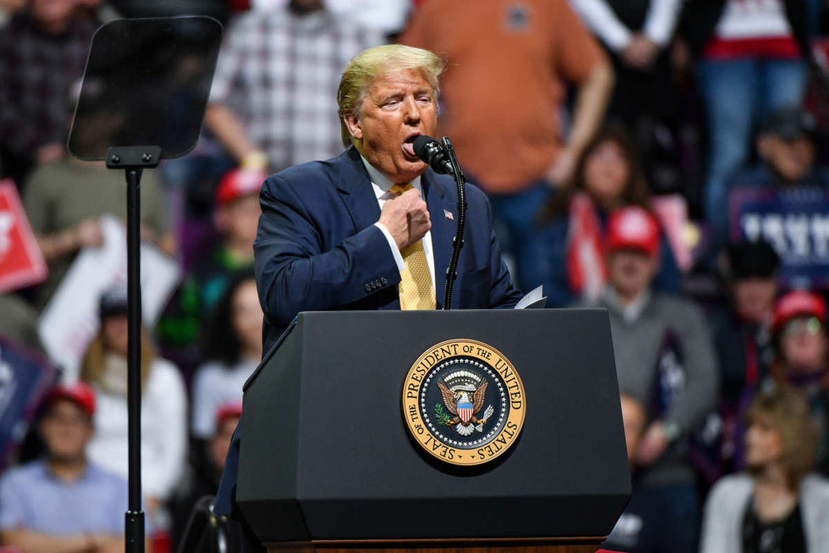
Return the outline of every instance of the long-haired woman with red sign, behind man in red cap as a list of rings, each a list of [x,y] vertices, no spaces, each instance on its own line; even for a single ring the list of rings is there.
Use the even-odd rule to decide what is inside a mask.
[[[607,279],[603,234],[608,213],[623,206],[650,207],[633,140],[623,128],[596,134],[576,165],[574,184],[552,196],[532,241],[536,263],[527,282],[544,285],[548,306],[565,307],[579,296],[595,299]],[[661,269],[654,281],[662,292],[678,292],[679,268],[662,236]]]

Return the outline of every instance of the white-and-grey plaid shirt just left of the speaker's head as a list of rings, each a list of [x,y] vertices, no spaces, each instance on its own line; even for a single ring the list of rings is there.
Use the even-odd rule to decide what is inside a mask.
[[[211,102],[245,120],[272,169],[342,152],[337,86],[348,61],[381,44],[379,32],[328,12],[246,12],[225,35]]]

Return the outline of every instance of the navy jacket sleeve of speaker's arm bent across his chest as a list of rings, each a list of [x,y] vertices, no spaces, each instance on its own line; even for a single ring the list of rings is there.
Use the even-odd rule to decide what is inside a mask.
[[[319,208],[325,201],[339,200],[303,198],[279,175],[269,177],[259,194],[262,216],[254,244],[259,301],[280,326],[300,311],[341,308],[400,282],[394,256],[376,226],[328,247],[325,226],[332,225],[327,221],[332,214]],[[381,279],[381,287],[366,289]]]

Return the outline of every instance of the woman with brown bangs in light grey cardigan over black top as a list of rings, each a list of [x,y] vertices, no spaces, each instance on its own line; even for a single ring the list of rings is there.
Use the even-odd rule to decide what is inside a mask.
[[[825,551],[829,482],[811,474],[815,434],[802,395],[777,386],[748,411],[746,473],[720,479],[705,504],[702,553]]]

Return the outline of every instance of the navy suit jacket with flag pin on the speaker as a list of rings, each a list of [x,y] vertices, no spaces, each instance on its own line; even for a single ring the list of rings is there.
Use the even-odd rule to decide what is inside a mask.
[[[432,220],[437,308],[441,309],[458,189],[452,177],[431,169],[424,172],[420,184]],[[466,198],[467,221],[452,308],[514,307],[521,293],[501,260],[492,206],[473,185],[466,185]],[[380,206],[356,149],[272,175],[262,185],[259,203],[262,216],[254,253],[264,309],[264,352],[271,350],[300,311],[400,309],[400,270],[385,235],[375,226]],[[236,514],[239,447],[237,428],[214,507],[225,515]]]

